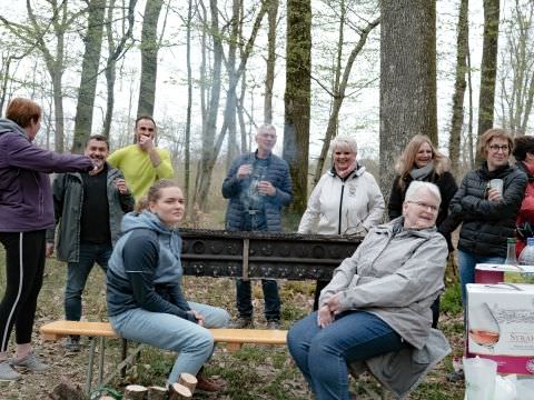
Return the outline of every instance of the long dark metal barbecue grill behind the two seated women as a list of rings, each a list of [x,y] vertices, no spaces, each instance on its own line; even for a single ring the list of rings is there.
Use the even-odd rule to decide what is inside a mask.
[[[199,277],[332,278],[362,242],[357,236],[180,229],[184,272]]]

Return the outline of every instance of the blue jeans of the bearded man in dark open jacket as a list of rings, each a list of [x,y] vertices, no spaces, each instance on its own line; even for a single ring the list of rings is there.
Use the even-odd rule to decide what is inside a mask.
[[[83,293],[92,266],[95,262],[98,263],[106,274],[112,250],[111,243],[80,243],[79,261],[69,262],[67,267],[67,286],[65,288],[65,317],[67,320],[80,320],[81,293]],[[102,288],[103,286],[102,282]]]

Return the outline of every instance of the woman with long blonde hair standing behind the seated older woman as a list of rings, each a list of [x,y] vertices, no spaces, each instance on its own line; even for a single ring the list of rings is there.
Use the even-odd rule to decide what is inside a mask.
[[[442,196],[442,203],[436,219],[436,227],[439,230],[439,226],[447,218],[448,203],[458,189],[456,180],[448,171],[448,159],[432,144],[431,138],[426,134],[414,136],[395,166],[397,176],[393,181],[387,206],[389,220],[402,216],[406,191],[413,181],[431,182],[437,186]],[[453,251],[451,233],[444,234],[444,237],[447,240],[448,251]],[[439,297],[432,306],[432,327],[436,328],[439,319]]]

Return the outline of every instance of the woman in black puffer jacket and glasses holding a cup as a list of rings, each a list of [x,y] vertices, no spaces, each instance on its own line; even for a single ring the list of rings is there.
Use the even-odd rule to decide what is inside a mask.
[[[446,234],[463,222],[458,264],[464,307],[465,286],[474,282],[475,266],[504,262],[506,238],[514,237],[527,180],[508,162],[513,141],[504,129],[488,129],[479,139],[479,151],[483,164],[464,177],[451,200],[449,214],[439,227]]]

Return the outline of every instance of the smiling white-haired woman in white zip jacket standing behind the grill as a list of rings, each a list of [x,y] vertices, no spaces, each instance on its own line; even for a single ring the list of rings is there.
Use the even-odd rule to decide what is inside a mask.
[[[385,204],[375,178],[358,164],[356,139],[332,141],[333,167],[314,188],[298,233],[359,234],[382,221]],[[317,280],[314,310],[328,280]]]

